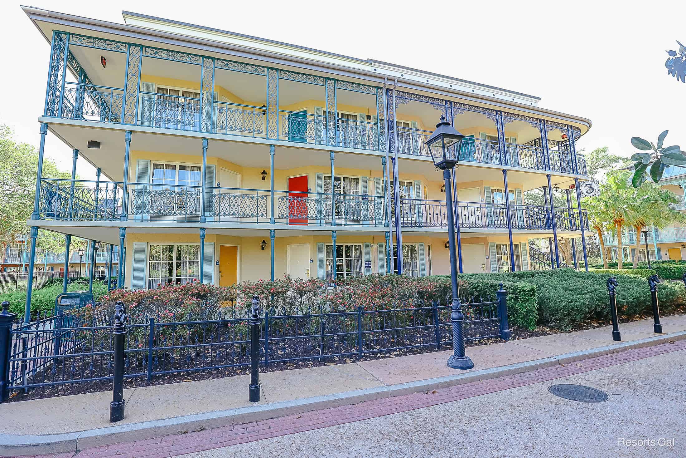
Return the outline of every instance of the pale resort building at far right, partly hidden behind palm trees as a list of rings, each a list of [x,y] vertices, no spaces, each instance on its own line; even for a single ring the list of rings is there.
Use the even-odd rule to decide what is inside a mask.
[[[659,185],[670,190],[678,197],[676,209],[686,210],[686,167],[672,165],[665,170]],[[622,234],[622,251],[624,262],[632,262],[634,256],[639,257],[639,261],[646,261],[645,243],[648,240],[648,254],[650,260],[686,260],[686,227],[683,223],[672,223],[668,227],[658,229],[656,227],[645,228],[647,233],[640,233],[637,241],[636,230],[630,227]],[[611,252],[610,260],[617,260],[617,236],[606,234],[604,236],[606,249]],[[637,242],[640,245],[637,254]],[[603,255],[605,255],[603,253]]]

